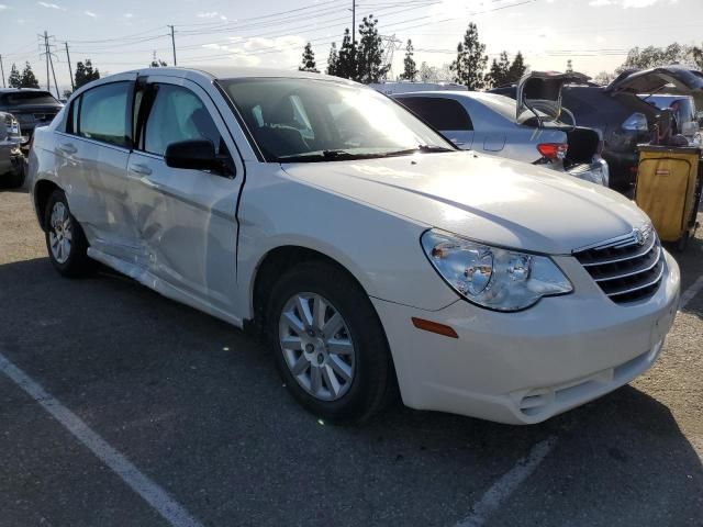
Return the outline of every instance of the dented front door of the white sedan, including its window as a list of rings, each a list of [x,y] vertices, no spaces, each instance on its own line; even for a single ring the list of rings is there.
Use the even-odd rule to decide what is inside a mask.
[[[234,312],[244,167],[214,102],[198,85],[149,77],[142,97],[127,177],[148,270],[176,288],[182,301],[226,316]],[[166,166],[166,147],[189,139],[210,139],[231,173]]]

